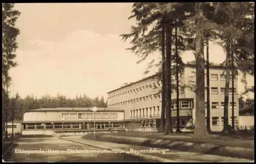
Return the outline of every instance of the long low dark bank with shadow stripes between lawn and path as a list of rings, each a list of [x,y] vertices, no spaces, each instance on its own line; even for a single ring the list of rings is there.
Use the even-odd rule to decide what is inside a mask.
[[[253,148],[243,148],[243,147],[232,147],[232,146],[222,146],[210,143],[195,143],[195,142],[184,142],[184,141],[174,141],[172,139],[168,140],[158,140],[158,139],[146,139],[146,138],[134,138],[127,136],[116,136],[116,135],[102,135],[98,140],[109,141],[120,144],[132,144],[141,145],[147,147],[161,147],[168,148],[171,150],[178,151],[189,151],[198,152],[203,154],[212,154],[220,156],[230,156],[236,158],[246,158],[254,159],[254,149]]]

